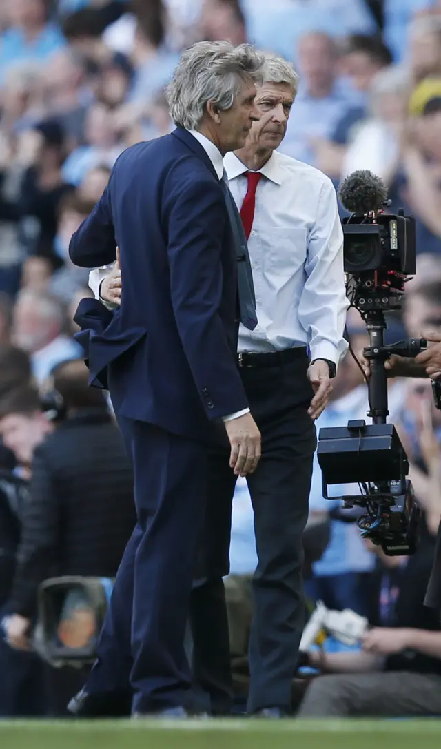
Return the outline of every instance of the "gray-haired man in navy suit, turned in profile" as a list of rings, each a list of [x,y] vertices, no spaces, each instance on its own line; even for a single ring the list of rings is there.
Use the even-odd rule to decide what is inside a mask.
[[[184,634],[210,445],[228,437],[240,476],[261,455],[236,360],[239,323],[257,323],[255,297],[222,157],[259,118],[263,64],[251,46],[227,42],[184,52],[168,88],[177,130],[119,157],[70,243],[80,267],[110,264],[121,249],[121,307],[88,299],[76,313],[90,382],[109,388],[133,461],[138,519],[85,695],[125,688],[112,652],[130,640],[134,715],[186,715]],[[127,610],[131,631],[118,616]]]

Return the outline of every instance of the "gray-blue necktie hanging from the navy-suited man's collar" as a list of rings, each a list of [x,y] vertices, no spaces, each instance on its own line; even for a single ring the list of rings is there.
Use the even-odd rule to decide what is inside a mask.
[[[256,298],[254,284],[252,282],[251,262],[249,260],[248,245],[246,243],[245,231],[243,231],[237,205],[234,202],[228,187],[227,172],[222,175],[222,187],[225,192],[225,203],[227,205],[228,217],[233,232],[234,244],[237,255],[237,285],[239,287],[240,322],[249,330],[254,330],[258,324],[256,315]]]

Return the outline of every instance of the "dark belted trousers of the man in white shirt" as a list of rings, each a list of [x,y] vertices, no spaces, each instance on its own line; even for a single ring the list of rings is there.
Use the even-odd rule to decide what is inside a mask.
[[[252,415],[261,430],[262,458],[248,477],[258,568],[252,589],[254,616],[249,643],[248,711],[291,708],[291,682],[305,623],[302,532],[308,519],[315,426],[308,415],[312,389],[308,357],[282,366],[241,369]],[[215,695],[225,712],[231,698],[228,619],[222,577],[229,571],[231,503],[236,478],[228,452],[209,460],[208,502],[198,580],[192,595],[194,679]],[[198,622],[210,612],[205,633]],[[207,616],[207,614],[205,614]]]

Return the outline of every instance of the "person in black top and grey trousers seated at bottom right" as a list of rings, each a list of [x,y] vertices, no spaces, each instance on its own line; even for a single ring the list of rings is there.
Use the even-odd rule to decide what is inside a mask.
[[[424,605],[433,542],[412,557],[371,549],[380,561],[365,587],[372,628],[361,652],[308,654],[323,676],[308,686],[298,718],[441,715],[440,616]]]

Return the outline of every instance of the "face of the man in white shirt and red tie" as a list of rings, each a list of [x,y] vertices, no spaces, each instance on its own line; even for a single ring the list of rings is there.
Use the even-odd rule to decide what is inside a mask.
[[[259,135],[263,148],[279,148],[285,138],[288,118],[294,104],[294,91],[288,83],[264,83],[258,87],[255,104],[261,115],[269,115],[270,121]],[[253,125],[258,127],[258,124]]]

